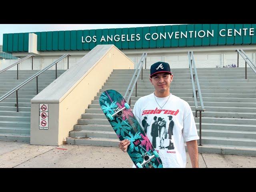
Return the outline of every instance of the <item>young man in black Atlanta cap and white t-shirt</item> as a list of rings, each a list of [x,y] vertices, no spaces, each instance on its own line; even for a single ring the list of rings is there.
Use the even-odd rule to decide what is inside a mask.
[[[172,79],[173,75],[168,63],[154,63],[150,68],[150,82],[155,91],[139,98],[134,105],[133,113],[138,122],[142,122],[147,117],[147,122],[151,125],[148,129],[152,128],[152,125],[154,128],[155,117],[158,118],[159,138],[156,139],[155,149],[158,150],[164,168],[186,167],[184,141],[187,145],[192,167],[198,168],[197,140],[199,137],[194,116],[186,101],[170,93]],[[172,118],[169,118],[170,115]],[[165,123],[163,123],[163,119]],[[170,130],[171,126],[168,125],[172,126],[172,130]],[[165,136],[167,135],[166,129],[168,129],[169,139],[166,139]],[[147,132],[147,136],[152,142],[150,132]],[[170,139],[172,139],[172,142]],[[120,149],[126,152],[129,144],[129,140],[121,141],[119,143]]]

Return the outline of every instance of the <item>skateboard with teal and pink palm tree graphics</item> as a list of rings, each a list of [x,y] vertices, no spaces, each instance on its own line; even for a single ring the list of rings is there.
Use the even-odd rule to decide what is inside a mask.
[[[100,107],[119,140],[130,140],[127,152],[137,168],[162,168],[158,152],[136,120],[129,104],[116,90],[106,90],[99,98]]]

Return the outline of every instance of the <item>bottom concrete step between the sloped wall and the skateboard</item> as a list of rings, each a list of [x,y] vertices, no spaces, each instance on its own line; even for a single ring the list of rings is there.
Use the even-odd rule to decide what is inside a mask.
[[[78,145],[95,145],[95,146],[115,146],[119,144],[119,139],[110,138],[78,138],[78,137],[67,137],[67,144],[78,144]]]

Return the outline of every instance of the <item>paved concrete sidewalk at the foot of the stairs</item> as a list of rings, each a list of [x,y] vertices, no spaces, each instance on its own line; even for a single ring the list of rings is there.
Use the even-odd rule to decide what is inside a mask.
[[[132,160],[117,147],[38,146],[0,140],[0,168],[131,168]],[[256,168],[256,157],[199,154],[200,168]],[[187,153],[187,166],[191,162]]]

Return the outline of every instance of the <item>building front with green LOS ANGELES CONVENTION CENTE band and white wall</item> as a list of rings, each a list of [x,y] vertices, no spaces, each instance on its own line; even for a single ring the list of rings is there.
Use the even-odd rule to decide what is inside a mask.
[[[3,51],[16,57],[29,53],[28,33],[4,34]],[[157,61],[171,68],[188,68],[188,51],[193,51],[196,67],[237,66],[236,49],[243,49],[255,62],[256,24],[182,24],[137,28],[34,32],[36,57],[34,69],[40,70],[63,54],[70,54],[69,64],[76,63],[98,44],[114,44],[136,66],[143,52],[148,52],[146,68]],[[24,61],[20,69],[30,69]],[[244,60],[239,57],[239,66]],[[67,68],[67,59],[58,69]]]

